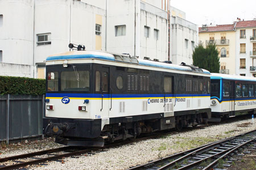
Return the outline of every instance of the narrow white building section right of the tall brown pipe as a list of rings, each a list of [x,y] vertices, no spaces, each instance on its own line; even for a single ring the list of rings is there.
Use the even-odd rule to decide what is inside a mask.
[[[198,25],[185,20],[185,12],[171,7],[171,61],[193,64],[193,50],[198,45]]]

